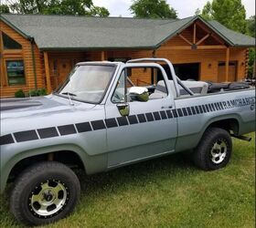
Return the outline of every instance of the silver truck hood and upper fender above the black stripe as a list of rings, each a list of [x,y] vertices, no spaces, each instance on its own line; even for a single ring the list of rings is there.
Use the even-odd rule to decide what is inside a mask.
[[[101,105],[75,100],[72,103],[56,95],[1,99],[1,135],[91,119],[92,109],[102,109]]]

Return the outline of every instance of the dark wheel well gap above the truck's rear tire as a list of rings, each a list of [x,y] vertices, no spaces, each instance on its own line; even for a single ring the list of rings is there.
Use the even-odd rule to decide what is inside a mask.
[[[222,119],[211,123],[208,128],[219,128],[227,130],[229,133],[239,134],[239,121],[237,119]]]

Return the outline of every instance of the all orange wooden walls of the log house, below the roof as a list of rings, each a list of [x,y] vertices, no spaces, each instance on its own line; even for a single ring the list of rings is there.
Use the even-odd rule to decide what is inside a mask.
[[[31,53],[31,44],[23,36],[16,33],[10,26],[0,22],[1,32],[10,36],[17,43],[22,45],[21,50],[3,50],[1,44],[1,97],[13,97],[16,90],[22,88],[24,91],[35,88],[33,57]],[[80,61],[101,61],[112,58],[141,58],[141,57],[165,57],[173,64],[199,63],[199,79],[219,82],[223,79],[223,72],[226,69],[219,67],[219,62],[225,62],[227,47],[223,40],[217,35],[208,35],[208,29],[202,25],[197,25],[196,34],[194,25],[183,30],[180,35],[167,40],[161,47],[154,50],[99,50],[99,51],[77,51],[48,52],[48,70],[50,88],[57,88],[58,85],[67,78],[71,68]],[[185,38],[185,39],[184,39]],[[197,43],[202,40],[197,49],[192,49],[190,43]],[[187,41],[188,42],[187,42]],[[39,51],[37,45],[34,45],[35,60],[37,69],[37,88],[47,88],[46,66],[43,52]],[[3,58],[4,57],[4,58]],[[8,86],[5,70],[5,59],[24,59],[26,72],[26,85]],[[241,80],[245,78],[248,71],[248,48],[229,47],[229,62],[236,62],[236,68],[229,68],[228,72],[235,77],[229,80]],[[224,71],[223,71],[224,70]],[[132,80],[137,85],[151,82],[151,71],[145,72],[142,69],[134,69]],[[221,77],[218,77],[221,75]],[[225,77],[224,77],[225,78]]]

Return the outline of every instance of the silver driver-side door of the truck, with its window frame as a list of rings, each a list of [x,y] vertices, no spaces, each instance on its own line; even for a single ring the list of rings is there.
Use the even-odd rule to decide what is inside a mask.
[[[145,74],[144,81],[147,80],[146,76],[152,78],[152,70],[144,67],[141,71]],[[109,168],[160,156],[175,150],[176,118],[173,118],[170,111],[175,104],[172,94],[168,94],[165,88],[165,83],[162,81],[164,85],[161,86],[161,90],[155,89],[146,102],[132,100],[126,96],[135,82],[139,81],[134,74],[141,73],[141,71],[138,68],[129,67],[128,70],[123,68],[106,102],[105,123]],[[125,72],[131,72],[131,76],[128,77]],[[143,76],[140,75],[140,77]],[[130,109],[127,116],[122,116],[117,107],[124,102],[129,105]]]

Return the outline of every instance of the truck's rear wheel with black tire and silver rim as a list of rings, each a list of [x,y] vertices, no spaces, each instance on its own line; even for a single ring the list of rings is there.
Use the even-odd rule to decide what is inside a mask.
[[[229,132],[219,128],[209,128],[194,150],[192,158],[202,170],[218,170],[228,164],[231,151],[232,140]]]

